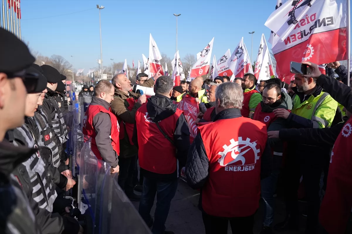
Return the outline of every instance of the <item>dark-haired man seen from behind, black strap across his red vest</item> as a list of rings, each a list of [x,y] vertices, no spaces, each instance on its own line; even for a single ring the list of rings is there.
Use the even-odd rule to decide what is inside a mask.
[[[173,86],[169,76],[158,78],[154,86],[155,95],[136,112],[133,134],[133,142],[139,147],[140,171],[144,175],[139,214],[149,227],[153,225],[154,234],[173,233],[165,232],[165,221],[190,145],[186,118],[170,99]],[[150,210],[155,194],[157,204],[153,224]]]

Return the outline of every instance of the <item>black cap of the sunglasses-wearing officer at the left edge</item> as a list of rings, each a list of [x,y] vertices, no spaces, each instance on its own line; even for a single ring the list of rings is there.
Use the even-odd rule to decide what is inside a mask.
[[[35,60],[26,44],[9,31],[0,28],[0,72],[23,71]]]

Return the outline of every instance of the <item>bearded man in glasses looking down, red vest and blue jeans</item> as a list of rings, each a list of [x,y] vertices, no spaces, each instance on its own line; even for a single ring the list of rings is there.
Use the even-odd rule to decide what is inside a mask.
[[[277,118],[273,112],[277,108],[292,109],[292,100],[287,93],[281,92],[281,87],[276,83],[268,83],[263,90],[263,101],[259,102],[253,114],[253,120],[264,123],[268,131],[279,131],[288,128],[283,118]],[[282,165],[283,142],[279,139],[268,139],[273,152],[273,170],[269,177],[260,181],[262,198],[264,201],[264,220],[260,234],[272,233],[271,224],[274,220],[274,193],[277,178]]]

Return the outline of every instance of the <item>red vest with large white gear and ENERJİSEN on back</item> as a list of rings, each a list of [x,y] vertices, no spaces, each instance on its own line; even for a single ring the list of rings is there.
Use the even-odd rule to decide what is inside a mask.
[[[199,127],[209,159],[202,207],[213,216],[245,217],[260,198],[260,157],[268,138],[264,123],[245,117]]]

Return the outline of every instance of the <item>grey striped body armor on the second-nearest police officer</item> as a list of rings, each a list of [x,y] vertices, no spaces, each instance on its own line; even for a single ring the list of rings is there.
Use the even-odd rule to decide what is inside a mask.
[[[12,133],[13,139],[10,140],[13,140],[13,145],[38,148],[34,142],[33,133],[26,125],[14,129]],[[27,196],[36,201],[39,208],[52,212],[57,193],[51,175],[46,169],[44,161],[40,158],[40,152],[33,154],[27,161],[21,163],[13,174],[17,176]]]

